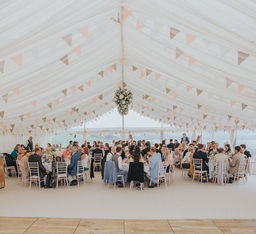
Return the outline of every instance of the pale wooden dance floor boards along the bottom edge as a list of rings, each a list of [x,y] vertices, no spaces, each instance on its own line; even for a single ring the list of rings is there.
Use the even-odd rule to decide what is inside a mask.
[[[142,233],[256,233],[253,219],[63,219],[0,217],[5,234],[142,234]]]

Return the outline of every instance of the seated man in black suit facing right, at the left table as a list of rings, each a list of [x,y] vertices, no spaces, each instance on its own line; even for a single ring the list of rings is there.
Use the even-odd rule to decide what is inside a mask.
[[[41,148],[35,147],[35,153],[31,154],[29,156],[28,162],[38,162],[39,177],[40,178],[44,178],[45,175],[47,175],[45,185],[43,184],[43,182],[41,182],[40,186],[45,187],[45,188],[52,188],[52,186],[50,186],[52,173],[50,171],[46,170],[45,167],[42,165],[41,156],[42,156]],[[36,173],[31,173],[31,175],[37,175],[37,174]]]

